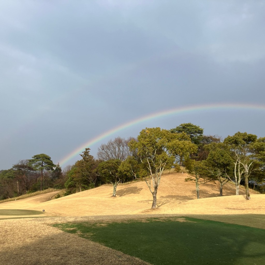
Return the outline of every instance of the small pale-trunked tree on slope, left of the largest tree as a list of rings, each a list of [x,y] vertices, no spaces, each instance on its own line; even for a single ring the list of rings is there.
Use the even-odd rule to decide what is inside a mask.
[[[96,168],[99,175],[103,176],[105,182],[111,183],[113,185],[113,197],[116,197],[117,185],[121,182],[123,178],[123,175],[119,171],[120,165],[121,160],[111,159],[99,163],[98,167]]]

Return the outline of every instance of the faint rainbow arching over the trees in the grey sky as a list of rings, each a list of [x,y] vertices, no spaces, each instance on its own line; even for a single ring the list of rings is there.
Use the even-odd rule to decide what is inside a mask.
[[[65,165],[69,160],[80,154],[86,147],[91,147],[91,145],[98,143],[99,141],[103,140],[104,138],[107,138],[111,136],[114,133],[117,133],[119,131],[125,130],[131,126],[137,125],[139,123],[142,123],[144,121],[149,121],[152,119],[158,119],[164,116],[169,115],[179,115],[183,113],[190,113],[194,111],[207,111],[207,110],[222,110],[222,109],[250,109],[250,110],[265,110],[264,105],[260,104],[248,104],[248,103],[217,103],[217,104],[205,104],[205,105],[192,105],[192,106],[186,106],[186,107],[180,107],[180,108],[173,108],[168,109],[160,112],[155,112],[148,114],[146,116],[136,118],[132,121],[123,123],[117,127],[112,128],[109,131],[106,131],[98,136],[96,136],[93,139],[90,139],[86,143],[82,144],[81,146],[74,149],[71,153],[69,153],[67,156],[65,156],[61,161],[59,162],[60,166]]]

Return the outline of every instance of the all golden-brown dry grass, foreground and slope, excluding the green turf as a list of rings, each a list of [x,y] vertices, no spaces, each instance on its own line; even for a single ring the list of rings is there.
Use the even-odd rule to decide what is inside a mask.
[[[116,198],[111,197],[112,186],[104,185],[55,200],[50,200],[55,195],[51,193],[2,203],[0,209],[45,209],[45,215],[50,218],[0,220],[0,264],[147,264],[64,233],[49,226],[51,223],[140,219],[149,214],[235,223],[238,220],[235,216],[240,214],[249,218],[242,218],[242,224],[248,225],[244,222],[251,222],[249,214],[265,214],[265,195],[251,192],[251,200],[246,201],[244,188],[240,189],[240,196],[233,196],[235,186],[228,183],[224,186],[225,196],[218,197],[218,185],[207,183],[201,185],[201,199],[197,200],[195,184],[184,182],[186,177],[187,174],[162,176],[155,211],[150,210],[152,195],[144,182],[119,185]]]

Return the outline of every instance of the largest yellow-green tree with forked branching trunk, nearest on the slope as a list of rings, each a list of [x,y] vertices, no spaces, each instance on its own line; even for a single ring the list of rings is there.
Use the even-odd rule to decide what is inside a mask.
[[[169,131],[161,130],[159,127],[145,128],[140,131],[137,140],[131,140],[129,147],[131,151],[137,151],[142,163],[142,172],[146,172],[146,175],[142,177],[153,195],[152,209],[154,209],[161,175],[164,169],[171,167],[175,161],[175,156],[168,149],[172,135]]]

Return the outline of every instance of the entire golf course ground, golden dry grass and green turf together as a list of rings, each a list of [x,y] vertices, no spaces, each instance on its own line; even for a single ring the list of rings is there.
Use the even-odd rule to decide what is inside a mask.
[[[265,195],[161,177],[157,207],[143,181],[0,203],[0,264],[264,264]]]

